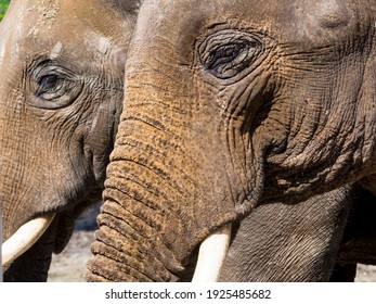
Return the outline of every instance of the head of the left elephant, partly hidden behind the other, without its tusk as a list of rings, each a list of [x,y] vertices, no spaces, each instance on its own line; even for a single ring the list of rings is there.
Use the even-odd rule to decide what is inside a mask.
[[[13,0],[0,25],[3,241],[57,212],[5,281],[46,281],[52,252],[101,199],[137,10],[132,0]]]

